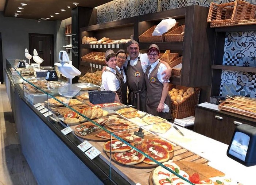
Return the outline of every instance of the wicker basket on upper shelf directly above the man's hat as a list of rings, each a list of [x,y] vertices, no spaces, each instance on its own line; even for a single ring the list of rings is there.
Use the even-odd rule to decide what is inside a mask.
[[[164,42],[164,34],[162,34],[161,36],[152,36],[152,33],[154,32],[156,26],[157,25],[152,26],[146,32],[141,34],[139,36],[139,42]],[[176,22],[176,24],[170,30],[168,30],[168,32],[178,28],[178,26],[179,22]]]

